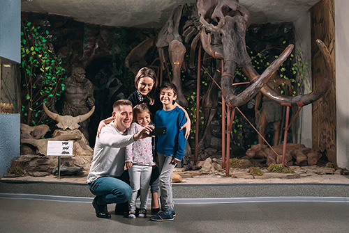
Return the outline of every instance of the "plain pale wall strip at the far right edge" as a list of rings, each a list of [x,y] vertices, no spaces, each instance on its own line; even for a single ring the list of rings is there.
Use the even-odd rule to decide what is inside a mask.
[[[349,1],[335,0],[337,163],[349,169]]]

